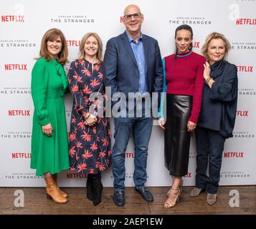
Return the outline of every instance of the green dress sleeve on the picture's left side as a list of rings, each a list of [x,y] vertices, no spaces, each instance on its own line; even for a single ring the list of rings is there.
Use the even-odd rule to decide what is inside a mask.
[[[34,112],[39,120],[39,125],[42,126],[50,123],[49,112],[46,107],[48,79],[46,63],[39,59],[32,69],[31,92]]]

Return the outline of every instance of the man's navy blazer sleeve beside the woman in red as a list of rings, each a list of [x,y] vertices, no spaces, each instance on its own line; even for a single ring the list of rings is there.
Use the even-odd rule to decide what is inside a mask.
[[[163,92],[163,64],[161,53],[156,41],[156,77],[154,83],[154,92],[158,92],[158,108],[161,106],[161,92]]]

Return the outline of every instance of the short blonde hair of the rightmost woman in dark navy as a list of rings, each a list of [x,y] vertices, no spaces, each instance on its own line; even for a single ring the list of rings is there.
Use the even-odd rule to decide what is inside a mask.
[[[229,40],[223,34],[219,34],[216,31],[214,31],[213,33],[209,34],[207,36],[207,38],[205,39],[204,45],[203,45],[203,47],[201,49],[202,50],[202,54],[204,55],[204,57],[209,59],[207,51],[208,51],[209,43],[212,41],[212,39],[222,39],[222,41],[224,42],[224,47],[225,47],[224,59],[226,59],[227,55],[229,54],[229,50],[231,49],[231,45],[229,43]]]

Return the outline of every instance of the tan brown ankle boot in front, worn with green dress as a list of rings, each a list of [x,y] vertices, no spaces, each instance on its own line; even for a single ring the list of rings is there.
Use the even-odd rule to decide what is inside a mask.
[[[55,203],[67,203],[67,198],[62,197],[60,195],[59,190],[57,189],[57,186],[55,185],[53,177],[44,177],[44,180],[46,182],[46,194],[47,198],[52,199]]]

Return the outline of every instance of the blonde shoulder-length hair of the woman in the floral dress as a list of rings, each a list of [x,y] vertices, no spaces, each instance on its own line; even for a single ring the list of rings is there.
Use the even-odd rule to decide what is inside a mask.
[[[79,47],[79,57],[78,57],[78,59],[84,59],[85,58],[85,42],[89,38],[89,36],[93,36],[97,40],[99,49],[98,49],[98,52],[97,52],[96,56],[101,62],[103,62],[103,42],[101,41],[100,36],[96,33],[93,33],[93,32],[89,32],[89,33],[85,34],[84,36],[82,36],[82,39],[81,39],[81,42],[80,42],[80,47]]]

